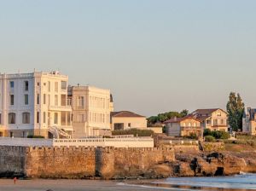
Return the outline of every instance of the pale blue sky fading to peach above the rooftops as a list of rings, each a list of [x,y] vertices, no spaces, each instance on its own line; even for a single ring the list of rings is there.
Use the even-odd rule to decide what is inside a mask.
[[[256,107],[254,0],[0,0],[0,72],[58,70],[146,116]]]

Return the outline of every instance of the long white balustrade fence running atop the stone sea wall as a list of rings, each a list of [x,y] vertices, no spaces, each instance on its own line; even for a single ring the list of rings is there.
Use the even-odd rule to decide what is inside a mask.
[[[151,137],[84,139],[29,139],[1,137],[0,145],[23,147],[154,148],[154,139]]]

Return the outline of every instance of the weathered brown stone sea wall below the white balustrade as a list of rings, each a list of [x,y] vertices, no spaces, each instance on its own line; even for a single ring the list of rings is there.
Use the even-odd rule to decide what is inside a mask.
[[[0,146],[1,177],[123,178],[175,160],[171,148],[26,148]]]

